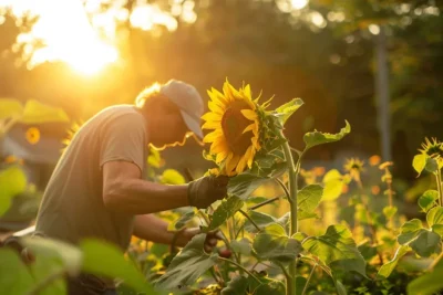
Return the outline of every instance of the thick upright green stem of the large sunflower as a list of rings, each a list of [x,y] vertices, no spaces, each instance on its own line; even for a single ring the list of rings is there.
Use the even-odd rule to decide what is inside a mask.
[[[297,217],[297,168],[300,165],[301,155],[297,161],[297,166],[293,164],[291,148],[289,143],[284,145],[285,158],[288,164],[289,171],[289,204],[290,204],[290,236],[298,232],[298,217]],[[286,280],[286,294],[295,295],[296,294],[296,273],[297,273],[297,259],[293,260],[289,264],[289,278]]]

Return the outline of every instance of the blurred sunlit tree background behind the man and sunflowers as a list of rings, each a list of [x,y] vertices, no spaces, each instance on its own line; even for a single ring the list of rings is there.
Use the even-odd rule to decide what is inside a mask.
[[[20,160],[28,193],[40,196],[73,124],[154,82],[183,80],[207,101],[228,78],[264,101],[275,95],[271,107],[305,101],[286,129],[296,148],[306,131],[337,133],[349,120],[351,135],[312,149],[307,169],[380,155],[413,188],[420,144],[442,139],[442,9],[439,0],[0,0],[0,97],[70,118],[16,124],[0,138],[0,162]],[[165,168],[199,176],[209,167],[202,150],[193,140],[165,150]],[[3,230],[33,218],[39,199],[21,198]]]

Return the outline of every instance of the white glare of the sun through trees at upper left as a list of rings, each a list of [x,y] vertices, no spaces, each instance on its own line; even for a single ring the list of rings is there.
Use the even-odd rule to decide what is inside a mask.
[[[33,53],[31,67],[61,61],[81,74],[92,75],[119,59],[117,50],[97,36],[80,1],[47,0],[35,6],[35,1],[20,0],[13,1],[12,7],[17,13],[31,10],[40,15],[32,31],[22,36],[45,43]]]

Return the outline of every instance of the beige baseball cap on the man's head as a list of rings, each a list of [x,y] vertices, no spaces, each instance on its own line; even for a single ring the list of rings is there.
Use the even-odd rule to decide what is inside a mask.
[[[178,106],[186,126],[198,138],[203,139],[200,117],[203,116],[204,106],[197,89],[183,81],[169,80],[161,86],[159,93]]]

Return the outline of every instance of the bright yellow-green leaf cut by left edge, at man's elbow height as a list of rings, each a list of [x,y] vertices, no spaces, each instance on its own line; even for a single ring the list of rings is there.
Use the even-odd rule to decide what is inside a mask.
[[[0,217],[8,211],[11,200],[27,189],[27,176],[18,166],[0,170]]]

